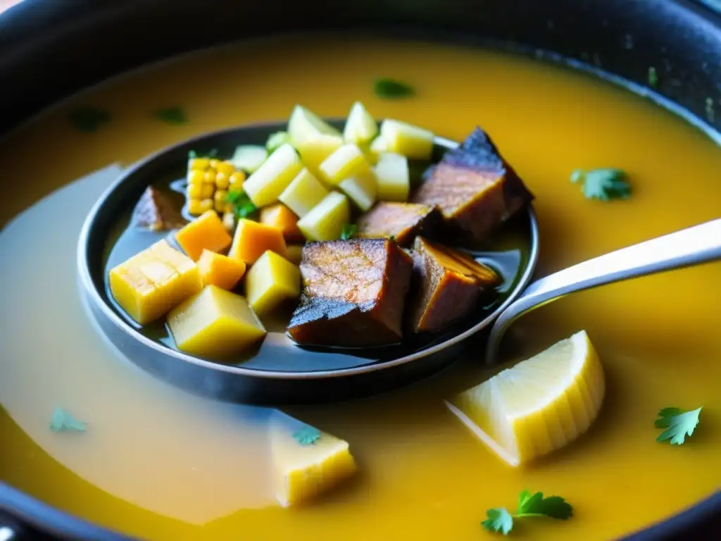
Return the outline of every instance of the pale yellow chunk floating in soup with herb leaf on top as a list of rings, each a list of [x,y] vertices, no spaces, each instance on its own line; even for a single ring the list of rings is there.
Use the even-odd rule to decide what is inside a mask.
[[[348,441],[319,432],[313,443],[303,444],[307,441],[304,431],[313,430],[280,411],[270,418],[273,486],[283,507],[306,503],[340,485],[357,470]]]

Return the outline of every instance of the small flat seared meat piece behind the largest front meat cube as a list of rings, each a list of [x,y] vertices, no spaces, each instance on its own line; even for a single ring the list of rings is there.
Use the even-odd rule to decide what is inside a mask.
[[[356,237],[374,239],[394,237],[399,245],[410,245],[418,234],[433,236],[443,226],[437,208],[413,203],[381,201],[358,219]]]

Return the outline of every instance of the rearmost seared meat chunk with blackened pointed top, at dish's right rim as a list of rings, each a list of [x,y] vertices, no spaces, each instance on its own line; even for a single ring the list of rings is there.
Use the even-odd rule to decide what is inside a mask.
[[[412,203],[438,206],[449,224],[479,240],[534,198],[481,128],[426,176]]]

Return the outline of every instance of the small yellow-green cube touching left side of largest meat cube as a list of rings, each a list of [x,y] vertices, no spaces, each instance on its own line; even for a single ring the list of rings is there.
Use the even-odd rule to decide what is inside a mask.
[[[296,299],[301,294],[301,271],[268,250],[248,271],[245,294],[256,314],[267,314],[284,300]]]

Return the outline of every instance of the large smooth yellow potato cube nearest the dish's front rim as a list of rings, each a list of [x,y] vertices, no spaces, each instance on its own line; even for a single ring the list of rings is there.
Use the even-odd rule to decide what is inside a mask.
[[[213,358],[238,353],[265,337],[247,300],[218,286],[205,286],[168,315],[180,351]]]

